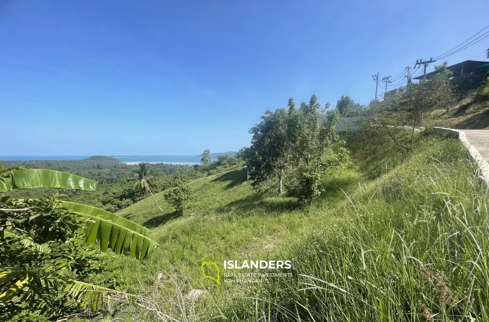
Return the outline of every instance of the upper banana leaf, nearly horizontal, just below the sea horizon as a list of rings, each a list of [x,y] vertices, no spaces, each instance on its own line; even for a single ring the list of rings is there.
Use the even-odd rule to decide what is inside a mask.
[[[0,192],[15,188],[30,189],[38,187],[96,190],[97,185],[97,181],[66,172],[46,169],[25,169],[12,170],[9,178],[1,178]]]

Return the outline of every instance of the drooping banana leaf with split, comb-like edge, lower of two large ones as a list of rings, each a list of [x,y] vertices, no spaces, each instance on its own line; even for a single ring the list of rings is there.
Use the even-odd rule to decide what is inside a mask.
[[[158,246],[156,241],[112,221],[87,214],[81,215],[93,221],[85,228],[85,241],[91,245],[99,241],[102,250],[110,248],[117,255],[124,254],[144,260]]]

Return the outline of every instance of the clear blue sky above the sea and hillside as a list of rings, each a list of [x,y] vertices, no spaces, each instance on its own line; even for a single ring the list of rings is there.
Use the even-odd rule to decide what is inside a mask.
[[[444,53],[488,12],[487,0],[3,0],[0,154],[237,150],[289,96],[367,103],[372,74]]]

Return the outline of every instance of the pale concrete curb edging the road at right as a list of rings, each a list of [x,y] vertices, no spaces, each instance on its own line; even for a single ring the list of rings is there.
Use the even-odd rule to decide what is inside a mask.
[[[477,173],[476,175],[479,177],[479,180],[482,182],[484,188],[486,188],[486,192],[489,193],[489,163],[484,159],[484,157],[477,151],[477,149],[470,144],[470,142],[465,137],[464,131],[449,129],[446,127],[433,127],[429,130],[430,134],[448,134],[455,139],[464,144],[465,148],[468,152],[468,157],[471,163],[475,163],[477,165]]]

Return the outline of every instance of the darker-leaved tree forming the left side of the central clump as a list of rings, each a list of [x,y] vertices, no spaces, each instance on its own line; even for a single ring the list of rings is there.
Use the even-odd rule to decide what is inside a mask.
[[[261,119],[249,130],[253,137],[246,166],[253,169],[251,185],[258,189],[278,177],[277,188],[282,194],[283,175],[289,162],[288,113],[285,109],[267,110]]]

